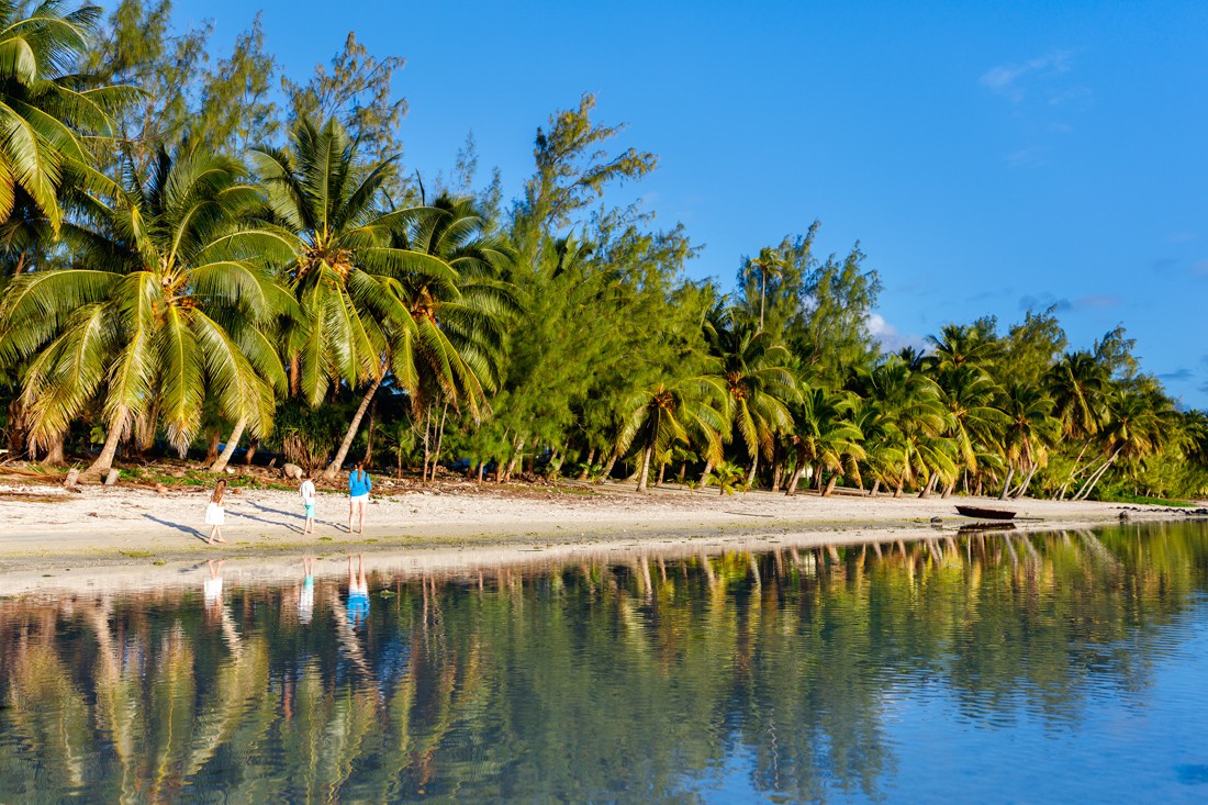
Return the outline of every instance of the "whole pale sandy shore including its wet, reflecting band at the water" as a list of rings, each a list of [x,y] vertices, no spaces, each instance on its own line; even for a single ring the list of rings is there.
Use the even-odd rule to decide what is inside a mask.
[[[54,487],[0,492],[0,595],[51,587],[128,589],[170,579],[208,558],[227,573],[271,580],[295,573],[302,555],[324,557],[319,573],[338,573],[347,554],[376,555],[376,569],[400,573],[472,571],[634,550],[701,551],[792,544],[893,542],[947,532],[969,521],[957,503],[1017,511],[1017,528],[1047,529],[1119,522],[1120,504],[914,497],[788,498],[769,492],[722,497],[716,491],[628,487],[541,487],[500,491],[443,483],[376,497],[365,534],[349,534],[347,498],[320,493],[318,532],[302,537],[295,492],[244,490],[228,498],[227,544],[208,546],[203,490],[155,492]],[[1181,520],[1178,510],[1140,506],[1132,521]],[[942,522],[934,523],[933,517]],[[68,569],[70,568],[70,569]],[[85,579],[88,583],[85,583]]]

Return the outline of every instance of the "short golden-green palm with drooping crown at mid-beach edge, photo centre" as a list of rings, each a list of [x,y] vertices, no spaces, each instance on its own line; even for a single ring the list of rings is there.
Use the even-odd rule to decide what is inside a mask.
[[[628,400],[616,452],[622,454],[632,446],[640,451],[638,492],[646,491],[650,457],[676,444],[692,444],[693,436],[703,441],[712,461],[721,461],[721,429],[726,425],[720,410],[722,400],[722,389],[710,378],[695,378],[676,386],[657,383]]]

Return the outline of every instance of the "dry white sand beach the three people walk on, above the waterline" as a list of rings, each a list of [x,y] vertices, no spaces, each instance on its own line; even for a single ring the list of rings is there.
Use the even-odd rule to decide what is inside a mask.
[[[877,498],[771,492],[719,496],[716,490],[662,488],[638,494],[629,486],[499,488],[441,482],[425,490],[374,494],[365,534],[347,531],[345,496],[320,492],[314,535],[301,534],[303,510],[296,492],[242,490],[227,497],[227,544],[205,544],[208,491],[117,486],[66,492],[52,486],[0,488],[0,571],[30,561],[83,564],[146,563],[149,560],[331,552],[336,550],[475,550],[553,545],[598,545],[675,538],[814,534],[834,542],[861,532],[954,529],[970,521],[956,504],[1005,508],[1017,527],[1074,527],[1185,516],[1161,506],[917,497]],[[933,517],[942,522],[933,523]]]

